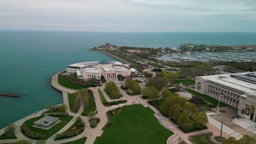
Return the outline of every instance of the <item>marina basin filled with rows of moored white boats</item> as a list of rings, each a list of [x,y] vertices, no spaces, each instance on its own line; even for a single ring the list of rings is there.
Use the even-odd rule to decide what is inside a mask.
[[[194,62],[194,61],[228,61],[252,62],[256,61],[256,52],[179,52],[164,53],[155,57],[160,61]]]

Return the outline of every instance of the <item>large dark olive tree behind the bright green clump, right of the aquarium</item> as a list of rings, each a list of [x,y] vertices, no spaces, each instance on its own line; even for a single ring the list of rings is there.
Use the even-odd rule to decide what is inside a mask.
[[[164,77],[151,77],[148,81],[148,86],[154,86],[158,89],[158,91],[161,91],[162,88],[164,88],[168,83],[168,80],[166,80]]]

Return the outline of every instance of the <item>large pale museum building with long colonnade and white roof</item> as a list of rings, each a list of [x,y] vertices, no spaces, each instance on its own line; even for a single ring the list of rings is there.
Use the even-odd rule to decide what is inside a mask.
[[[256,72],[197,76],[195,90],[238,109],[237,114],[255,121]]]

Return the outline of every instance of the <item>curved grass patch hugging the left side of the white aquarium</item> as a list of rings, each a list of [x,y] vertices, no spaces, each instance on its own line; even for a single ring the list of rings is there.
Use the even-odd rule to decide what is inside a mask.
[[[58,75],[58,82],[59,82],[59,84],[61,86],[67,87],[67,88],[71,88],[71,89],[86,88],[86,87],[83,87],[81,85],[78,85],[78,84],[75,84],[75,83],[71,83],[71,81],[69,81],[66,76],[63,76],[61,74]]]

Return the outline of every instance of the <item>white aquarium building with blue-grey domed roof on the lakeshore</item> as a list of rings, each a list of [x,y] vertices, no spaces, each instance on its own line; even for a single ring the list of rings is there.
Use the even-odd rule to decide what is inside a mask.
[[[76,73],[79,79],[101,79],[103,75],[106,79],[117,79],[117,76],[130,76],[129,64],[121,62],[95,61],[75,63],[67,66],[67,73]]]

